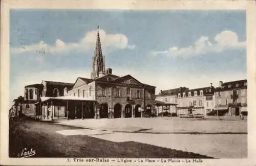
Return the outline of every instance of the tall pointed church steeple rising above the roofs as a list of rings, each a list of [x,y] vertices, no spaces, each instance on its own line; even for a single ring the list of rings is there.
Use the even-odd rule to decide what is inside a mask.
[[[101,43],[99,37],[99,26],[97,31],[96,46],[93,57],[93,70],[91,79],[96,79],[105,75],[105,58],[102,56]]]

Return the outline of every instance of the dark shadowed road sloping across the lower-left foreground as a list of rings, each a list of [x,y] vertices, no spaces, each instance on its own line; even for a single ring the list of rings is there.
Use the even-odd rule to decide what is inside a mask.
[[[69,130],[68,133],[71,134],[63,134],[63,130]],[[88,130],[83,131],[84,134],[76,135],[74,130],[81,131],[81,128],[56,125],[51,122],[11,121],[10,157],[17,157],[24,148],[32,148],[36,151],[36,155],[32,157],[208,158],[201,154],[134,140],[115,141],[97,138],[100,135],[113,134],[111,132]]]

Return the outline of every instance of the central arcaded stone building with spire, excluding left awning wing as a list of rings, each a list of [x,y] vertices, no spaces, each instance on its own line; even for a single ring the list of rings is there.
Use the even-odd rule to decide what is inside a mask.
[[[155,88],[131,75],[116,76],[111,68],[105,68],[97,32],[91,78],[77,78],[69,95],[96,100],[100,104],[99,118],[141,117],[141,110],[152,112]]]

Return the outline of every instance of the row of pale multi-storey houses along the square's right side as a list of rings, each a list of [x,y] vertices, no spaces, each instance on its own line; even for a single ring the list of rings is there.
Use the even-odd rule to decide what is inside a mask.
[[[189,89],[180,87],[161,90],[156,100],[177,104],[177,115],[202,114],[222,115],[247,114],[247,80],[223,83],[218,87],[210,86]],[[191,111],[189,111],[191,110]],[[160,108],[160,112],[164,112]],[[172,110],[174,112],[175,110]]]

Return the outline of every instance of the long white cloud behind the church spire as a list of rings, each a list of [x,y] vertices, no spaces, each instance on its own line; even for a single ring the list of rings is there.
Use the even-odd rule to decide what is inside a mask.
[[[69,43],[56,39],[54,45],[50,45],[44,41],[20,48],[11,48],[11,53],[19,54],[24,52],[36,52],[41,54],[60,54],[76,52],[92,51],[96,42],[97,31],[87,32],[78,42]],[[104,54],[108,54],[115,50],[134,49],[135,45],[129,45],[128,38],[123,34],[106,34],[105,31],[99,30],[102,50]]]

